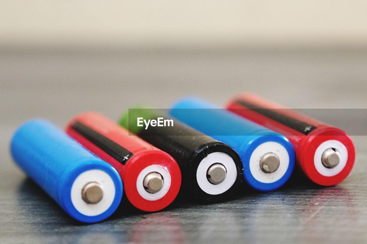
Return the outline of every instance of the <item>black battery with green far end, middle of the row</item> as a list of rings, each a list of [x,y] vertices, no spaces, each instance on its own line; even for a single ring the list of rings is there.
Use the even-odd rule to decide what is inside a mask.
[[[137,118],[172,120],[172,126],[137,126]],[[216,203],[233,197],[243,178],[237,152],[193,128],[149,108],[131,108],[120,125],[167,152],[176,159],[182,173],[186,195],[202,203]]]

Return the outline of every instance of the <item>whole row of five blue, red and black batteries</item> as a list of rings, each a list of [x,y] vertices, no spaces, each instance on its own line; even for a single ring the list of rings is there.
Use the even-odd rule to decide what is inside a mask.
[[[338,184],[352,170],[355,148],[341,129],[278,110],[253,94],[236,97],[226,108],[190,97],[164,115],[130,109],[120,125],[85,112],[69,122],[66,133],[34,119],[15,132],[11,154],[63,210],[87,223],[108,218],[123,194],[140,210],[158,211],[180,188],[202,203],[224,201],[239,187],[273,191],[290,178],[295,161],[323,186]],[[174,125],[137,125],[138,118],[160,116]]]

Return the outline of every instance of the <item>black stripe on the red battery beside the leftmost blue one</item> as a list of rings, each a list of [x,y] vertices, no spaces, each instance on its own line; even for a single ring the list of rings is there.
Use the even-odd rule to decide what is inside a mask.
[[[80,122],[76,122],[72,126],[72,129],[121,164],[125,164],[127,160],[134,155],[128,149],[122,147],[121,145],[115,143],[114,141],[103,136],[102,134],[99,134],[95,130],[86,125],[83,125]]]

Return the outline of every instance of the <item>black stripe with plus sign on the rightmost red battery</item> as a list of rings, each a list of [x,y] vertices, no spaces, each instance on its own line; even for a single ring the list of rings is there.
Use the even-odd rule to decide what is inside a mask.
[[[297,130],[298,132],[301,132],[302,134],[305,134],[306,136],[316,129],[316,126],[310,125],[308,123],[305,123],[303,121],[299,121],[298,119],[288,117],[284,114],[279,114],[276,111],[260,107],[256,104],[249,103],[247,101],[243,100],[236,100],[237,104],[240,104],[243,107],[247,107],[248,109],[257,112],[258,114],[264,115],[265,117],[268,117],[269,119],[272,119],[276,122],[279,122],[287,127],[290,127],[291,129]]]

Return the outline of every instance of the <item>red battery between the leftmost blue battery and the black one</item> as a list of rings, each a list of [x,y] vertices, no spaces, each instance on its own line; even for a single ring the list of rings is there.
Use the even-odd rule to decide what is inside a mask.
[[[66,133],[111,164],[120,174],[130,203],[143,211],[159,211],[176,198],[181,171],[166,152],[97,112],[84,112],[66,126]]]

